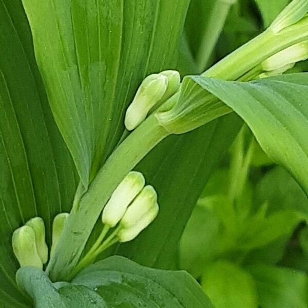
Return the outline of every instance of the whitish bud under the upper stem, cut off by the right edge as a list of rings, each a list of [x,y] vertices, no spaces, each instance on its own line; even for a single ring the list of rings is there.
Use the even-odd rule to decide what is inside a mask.
[[[262,69],[265,71],[279,70],[287,65],[308,59],[308,41],[290,46],[272,55],[262,62]]]

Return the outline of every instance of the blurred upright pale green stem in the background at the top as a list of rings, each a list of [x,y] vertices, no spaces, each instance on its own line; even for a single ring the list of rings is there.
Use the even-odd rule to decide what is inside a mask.
[[[231,6],[232,2],[230,1],[216,0],[211,10],[209,21],[196,56],[197,66],[200,72],[204,71],[208,65]]]

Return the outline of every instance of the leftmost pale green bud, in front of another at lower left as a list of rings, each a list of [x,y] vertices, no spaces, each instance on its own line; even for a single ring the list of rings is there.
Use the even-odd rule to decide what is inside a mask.
[[[43,262],[37,252],[35,232],[32,227],[26,225],[16,229],[12,236],[12,247],[21,266],[35,266],[43,269]]]

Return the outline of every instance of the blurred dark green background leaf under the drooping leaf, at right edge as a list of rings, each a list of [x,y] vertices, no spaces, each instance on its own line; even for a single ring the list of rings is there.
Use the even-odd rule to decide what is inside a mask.
[[[256,187],[258,203],[267,201],[268,211],[293,209],[308,213],[308,200],[301,187],[287,171],[275,167],[268,171]]]

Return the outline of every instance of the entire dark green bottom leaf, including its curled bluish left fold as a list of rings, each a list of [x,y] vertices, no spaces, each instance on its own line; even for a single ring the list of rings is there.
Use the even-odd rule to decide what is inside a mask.
[[[122,257],[89,266],[71,283],[52,283],[35,267],[21,268],[16,280],[37,308],[213,307],[187,273],[146,268]]]

